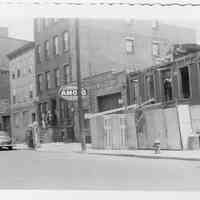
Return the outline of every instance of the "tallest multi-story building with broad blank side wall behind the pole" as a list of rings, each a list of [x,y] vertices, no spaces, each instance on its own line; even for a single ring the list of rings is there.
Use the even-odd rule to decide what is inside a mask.
[[[59,98],[58,89],[76,81],[75,20],[36,19],[34,27],[39,119],[50,110],[56,126],[65,132],[71,127],[72,109]],[[81,73],[86,78],[110,70],[148,68],[162,61],[173,44],[194,43],[196,35],[158,21],[81,19],[79,39]],[[112,100],[112,95],[104,95],[102,102],[104,98]]]

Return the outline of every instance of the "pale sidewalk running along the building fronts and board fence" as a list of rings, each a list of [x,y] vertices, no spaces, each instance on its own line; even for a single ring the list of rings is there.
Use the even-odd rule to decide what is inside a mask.
[[[16,149],[28,149],[26,145],[17,145]],[[81,153],[80,143],[47,143],[41,144],[38,152],[54,152],[54,153]],[[126,156],[136,158],[149,159],[173,159],[173,160],[188,160],[200,161],[199,150],[185,151],[167,151],[161,150],[160,154],[155,154],[153,150],[103,150],[92,149],[90,144],[87,144],[87,155],[102,155],[102,156]]]

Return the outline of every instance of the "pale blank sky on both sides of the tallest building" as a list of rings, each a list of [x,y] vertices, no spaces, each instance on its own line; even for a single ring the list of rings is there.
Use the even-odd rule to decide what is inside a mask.
[[[197,43],[200,44],[200,20],[162,20],[167,24],[183,26],[197,31]],[[33,18],[0,18],[0,26],[8,27],[9,37],[33,41]]]

